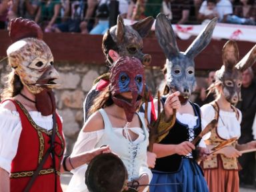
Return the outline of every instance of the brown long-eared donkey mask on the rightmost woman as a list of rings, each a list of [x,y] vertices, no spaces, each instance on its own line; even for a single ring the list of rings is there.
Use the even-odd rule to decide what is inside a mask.
[[[256,61],[256,45],[237,63],[239,51],[235,41],[227,41],[222,50],[223,65],[216,71],[216,83],[221,82],[223,94],[229,103],[241,100],[242,71]]]

